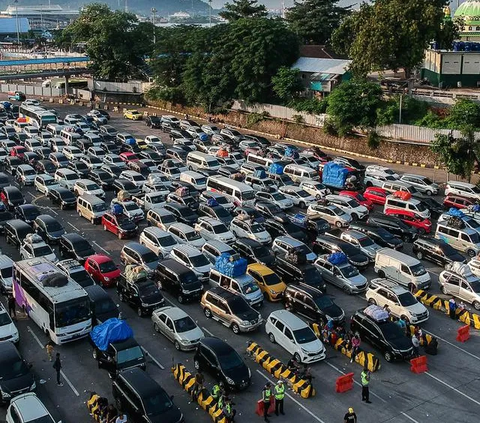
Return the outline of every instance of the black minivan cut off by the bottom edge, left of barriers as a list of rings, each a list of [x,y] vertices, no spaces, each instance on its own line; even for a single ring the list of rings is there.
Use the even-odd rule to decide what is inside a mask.
[[[116,407],[128,415],[132,423],[182,423],[183,414],[173,396],[139,369],[121,372],[112,382]]]

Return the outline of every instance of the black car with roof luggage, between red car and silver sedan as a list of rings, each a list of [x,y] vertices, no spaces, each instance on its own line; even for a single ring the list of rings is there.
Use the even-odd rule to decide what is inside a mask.
[[[120,301],[129,303],[140,317],[151,315],[153,310],[165,304],[163,295],[150,279],[130,283],[125,275],[121,274],[117,283],[117,294]]]

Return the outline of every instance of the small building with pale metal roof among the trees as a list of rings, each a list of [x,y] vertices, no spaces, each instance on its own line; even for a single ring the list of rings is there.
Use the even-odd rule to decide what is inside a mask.
[[[300,57],[292,69],[300,71],[305,90],[314,95],[325,95],[343,81],[351,79],[348,70],[351,60]]]

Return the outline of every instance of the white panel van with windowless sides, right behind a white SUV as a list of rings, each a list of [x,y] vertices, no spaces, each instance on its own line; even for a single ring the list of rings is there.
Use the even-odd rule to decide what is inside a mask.
[[[428,289],[432,284],[430,274],[420,261],[391,248],[377,251],[374,270],[379,277],[407,286],[410,291]]]

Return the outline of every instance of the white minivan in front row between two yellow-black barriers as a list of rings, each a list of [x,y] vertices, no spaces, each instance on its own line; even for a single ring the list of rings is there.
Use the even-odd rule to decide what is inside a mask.
[[[283,347],[298,363],[325,359],[325,347],[302,319],[287,310],[270,313],[265,323],[270,342]]]

